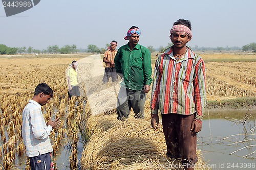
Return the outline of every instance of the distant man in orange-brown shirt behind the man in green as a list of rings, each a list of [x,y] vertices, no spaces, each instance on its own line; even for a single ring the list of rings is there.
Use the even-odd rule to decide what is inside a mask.
[[[114,63],[114,58],[117,53],[116,46],[117,46],[117,42],[115,40],[111,41],[110,47],[104,53],[103,62],[106,63],[106,67],[105,67],[105,72],[103,76],[103,83],[109,82],[110,77],[112,82],[117,81],[117,74],[116,74],[115,63]]]

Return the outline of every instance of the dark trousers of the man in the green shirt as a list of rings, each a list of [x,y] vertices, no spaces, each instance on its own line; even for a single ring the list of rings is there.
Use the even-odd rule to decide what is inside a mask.
[[[144,118],[145,100],[146,94],[144,91],[121,87],[117,96],[117,119],[128,118],[131,108],[133,108],[135,118]]]

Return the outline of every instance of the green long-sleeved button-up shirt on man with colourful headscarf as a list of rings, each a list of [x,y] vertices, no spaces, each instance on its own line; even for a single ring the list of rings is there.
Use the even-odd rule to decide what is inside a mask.
[[[123,75],[122,86],[132,90],[142,90],[152,83],[150,51],[137,44],[131,51],[128,44],[121,46],[115,57],[116,72]]]

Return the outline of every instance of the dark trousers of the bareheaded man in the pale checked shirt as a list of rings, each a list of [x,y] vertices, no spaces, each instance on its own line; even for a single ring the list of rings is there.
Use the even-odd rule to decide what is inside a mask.
[[[51,153],[29,157],[31,170],[50,170],[52,164]]]

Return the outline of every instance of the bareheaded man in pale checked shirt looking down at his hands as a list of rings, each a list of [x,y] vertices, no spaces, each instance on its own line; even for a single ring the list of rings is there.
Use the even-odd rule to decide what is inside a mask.
[[[51,118],[46,124],[42,115],[41,106],[44,106],[53,96],[53,90],[46,84],[38,84],[32,100],[23,110],[22,137],[26,148],[26,155],[30,160],[30,168],[53,169],[51,152],[53,151],[50,133],[52,129],[59,128],[59,117],[53,122]]]

